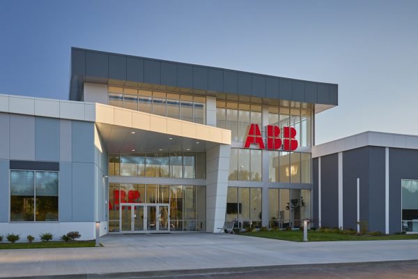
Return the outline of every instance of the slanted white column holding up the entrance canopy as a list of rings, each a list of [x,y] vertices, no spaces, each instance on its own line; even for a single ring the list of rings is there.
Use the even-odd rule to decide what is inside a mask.
[[[219,232],[225,222],[230,155],[226,144],[206,150],[206,232]]]

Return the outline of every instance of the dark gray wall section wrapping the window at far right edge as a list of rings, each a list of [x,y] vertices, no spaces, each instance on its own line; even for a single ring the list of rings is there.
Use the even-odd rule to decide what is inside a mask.
[[[401,232],[402,179],[418,179],[418,150],[389,149],[389,233]]]

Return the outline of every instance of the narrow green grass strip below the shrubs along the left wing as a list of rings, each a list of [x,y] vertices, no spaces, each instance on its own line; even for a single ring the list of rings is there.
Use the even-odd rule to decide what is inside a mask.
[[[78,248],[78,247],[94,247],[95,241],[49,241],[49,242],[33,242],[33,243],[0,243],[1,249],[32,249],[32,248]]]

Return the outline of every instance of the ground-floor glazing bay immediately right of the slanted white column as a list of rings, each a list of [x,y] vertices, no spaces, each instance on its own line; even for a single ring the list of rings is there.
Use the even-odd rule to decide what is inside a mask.
[[[236,220],[238,226],[261,227],[261,188],[228,187],[226,220]]]

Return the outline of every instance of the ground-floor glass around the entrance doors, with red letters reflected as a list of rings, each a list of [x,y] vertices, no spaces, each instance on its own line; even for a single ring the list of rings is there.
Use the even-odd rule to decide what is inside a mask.
[[[206,186],[110,183],[109,232],[121,231],[129,204],[167,204],[171,231],[206,231]]]

